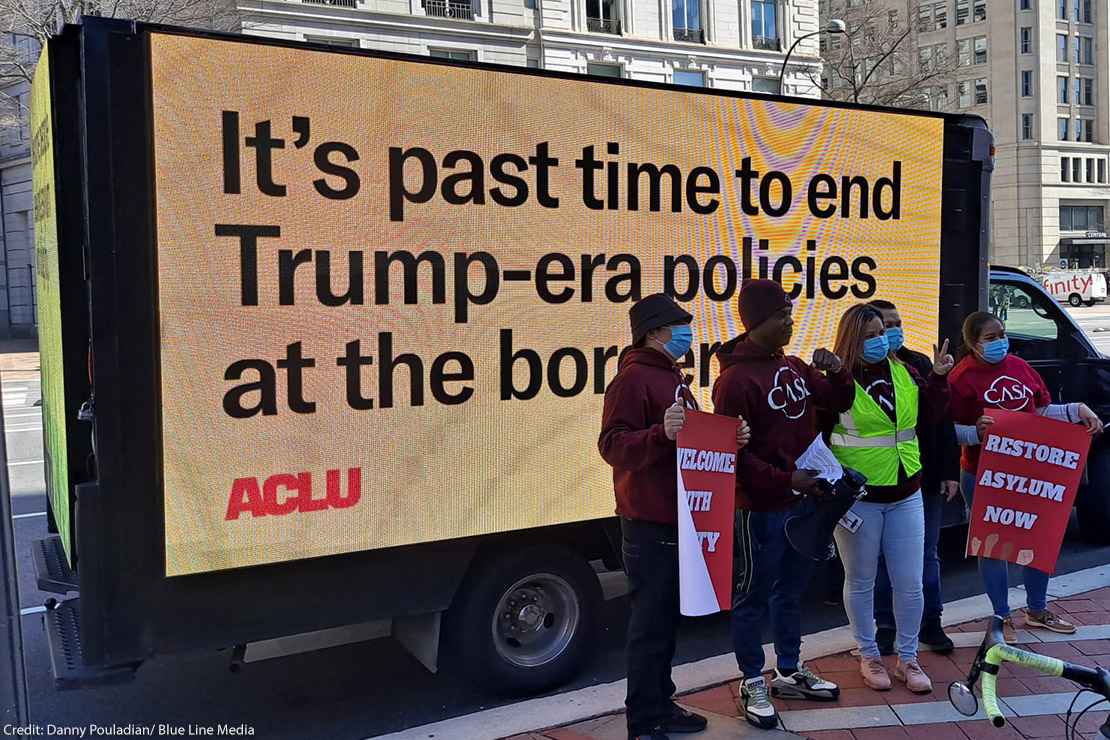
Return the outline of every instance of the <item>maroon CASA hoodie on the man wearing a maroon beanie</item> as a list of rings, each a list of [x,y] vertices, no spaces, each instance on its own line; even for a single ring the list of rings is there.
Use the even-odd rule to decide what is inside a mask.
[[[722,371],[713,386],[714,412],[743,416],[751,427],[736,469],[736,506],[788,508],[798,500],[790,488],[794,462],[819,430],[817,406],[837,414],[851,408],[851,373],[826,377],[798,357],[768,353],[746,335],[722,346],[717,357]]]

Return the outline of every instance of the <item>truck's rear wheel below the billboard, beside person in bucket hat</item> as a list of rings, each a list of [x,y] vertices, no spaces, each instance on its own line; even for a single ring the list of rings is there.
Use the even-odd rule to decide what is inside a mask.
[[[594,648],[602,587],[586,560],[538,546],[476,562],[447,614],[448,645],[476,682],[529,695],[569,680]]]

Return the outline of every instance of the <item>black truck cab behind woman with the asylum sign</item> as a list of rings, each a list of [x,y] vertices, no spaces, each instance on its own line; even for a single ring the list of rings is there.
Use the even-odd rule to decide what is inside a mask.
[[[990,290],[1009,294],[1009,305],[991,305],[1006,324],[1010,352],[1045,378],[1054,403],[1086,403],[1110,419],[1110,358],[1100,353],[1041,283],[1016,267],[991,265]],[[992,302],[993,304],[995,302]],[[1076,499],[1084,539],[1110,543],[1110,444],[1096,438]]]

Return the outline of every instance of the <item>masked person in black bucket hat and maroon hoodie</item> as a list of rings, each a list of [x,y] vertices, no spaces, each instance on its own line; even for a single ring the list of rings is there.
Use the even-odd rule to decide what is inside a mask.
[[[628,737],[666,740],[699,732],[706,719],[673,700],[678,629],[678,485],[675,437],[697,403],[676,362],[693,343],[693,317],[662,293],[633,305],[632,347],[605,391],[597,448],[613,466],[628,576]],[[748,442],[746,424],[737,449]]]

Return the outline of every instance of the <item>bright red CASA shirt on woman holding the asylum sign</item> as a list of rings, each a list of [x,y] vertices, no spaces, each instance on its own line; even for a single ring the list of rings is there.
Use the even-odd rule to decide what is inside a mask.
[[[997,365],[980,362],[975,355],[961,359],[948,374],[952,420],[973,425],[991,408],[1036,414],[1052,403],[1045,379],[1017,355],[1006,355]],[[975,473],[979,467],[979,446],[965,446],[960,467]]]

